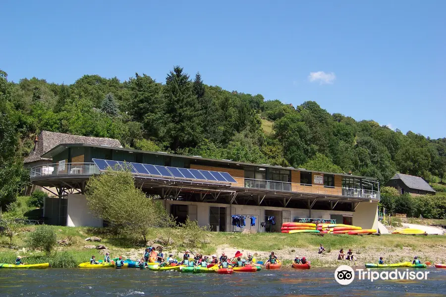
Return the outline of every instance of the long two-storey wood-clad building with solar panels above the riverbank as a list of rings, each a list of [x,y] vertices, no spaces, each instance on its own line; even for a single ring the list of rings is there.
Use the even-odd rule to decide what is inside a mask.
[[[52,164],[34,166],[31,182],[56,189],[51,190],[54,197],[45,201],[44,216],[49,224],[103,225],[89,214],[84,189],[89,177],[99,174],[105,167],[101,164],[109,160],[111,166],[131,164],[137,186],[162,199],[178,222],[188,216],[214,231],[279,232],[282,222],[324,218],[377,229],[380,193],[375,178],[92,144],[59,144],[41,157],[52,159]],[[151,172],[149,167],[158,170]],[[172,175],[169,170],[182,174]],[[210,178],[196,178],[198,175],[191,174],[196,170],[214,173]],[[157,173],[162,171],[167,172]],[[233,180],[215,179],[213,174],[221,176],[215,172],[228,173]],[[256,224],[235,227],[231,216],[236,214],[254,217]],[[276,225],[268,223],[271,217]]]

